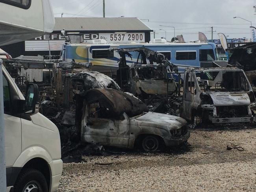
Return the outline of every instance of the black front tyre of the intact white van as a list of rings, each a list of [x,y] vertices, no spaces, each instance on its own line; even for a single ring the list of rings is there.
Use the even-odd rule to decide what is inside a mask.
[[[24,169],[15,185],[14,192],[48,192],[45,176],[36,169]]]

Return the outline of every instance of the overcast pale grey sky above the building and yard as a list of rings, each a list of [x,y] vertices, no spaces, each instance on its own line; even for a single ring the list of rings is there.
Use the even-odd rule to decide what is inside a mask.
[[[103,17],[103,0],[51,0],[55,17]],[[217,33],[224,33],[228,38],[250,38],[250,22],[256,26],[256,15],[253,8],[255,0],[105,0],[106,17],[138,17],[152,30],[156,30],[156,38],[173,37],[182,34],[185,41],[197,40],[198,31],[211,39]],[[163,29],[163,30],[160,30]],[[152,38],[153,36],[151,36]]]

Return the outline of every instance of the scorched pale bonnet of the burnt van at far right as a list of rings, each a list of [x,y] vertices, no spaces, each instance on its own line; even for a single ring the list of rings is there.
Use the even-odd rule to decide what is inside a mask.
[[[214,105],[250,105],[247,93],[214,92],[209,95]]]

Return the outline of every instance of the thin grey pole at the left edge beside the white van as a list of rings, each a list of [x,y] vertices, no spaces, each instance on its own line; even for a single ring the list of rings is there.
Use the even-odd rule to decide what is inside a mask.
[[[4,134],[4,93],[2,59],[0,59],[0,191],[6,191],[6,149]]]

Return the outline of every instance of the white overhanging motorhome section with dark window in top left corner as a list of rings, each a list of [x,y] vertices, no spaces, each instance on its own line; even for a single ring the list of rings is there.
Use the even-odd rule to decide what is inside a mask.
[[[50,0],[0,0],[0,46],[51,33],[55,20]]]

